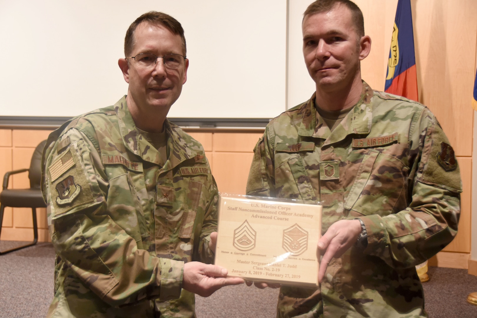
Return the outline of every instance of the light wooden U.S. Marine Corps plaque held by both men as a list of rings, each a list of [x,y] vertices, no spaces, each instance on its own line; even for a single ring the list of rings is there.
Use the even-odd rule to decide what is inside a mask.
[[[294,200],[220,194],[215,264],[231,277],[317,287],[321,209]]]

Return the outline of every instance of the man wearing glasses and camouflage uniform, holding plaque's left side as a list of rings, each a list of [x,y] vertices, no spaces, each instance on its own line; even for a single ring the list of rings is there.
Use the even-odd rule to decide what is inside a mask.
[[[181,24],[143,14],[124,53],[127,95],[64,123],[44,150],[57,253],[48,317],[195,317],[194,293],[243,283],[204,264],[217,186],[202,145],[166,118],[187,80]]]

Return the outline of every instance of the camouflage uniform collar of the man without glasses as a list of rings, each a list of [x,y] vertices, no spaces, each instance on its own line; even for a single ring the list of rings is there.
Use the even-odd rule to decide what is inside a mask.
[[[368,134],[371,131],[373,90],[363,81],[361,98],[353,106],[353,109],[343,118],[342,122],[330,133],[330,129],[323,125],[320,118],[316,118],[315,106],[316,92],[303,109],[303,117],[299,129],[299,135],[312,136],[326,139],[325,144],[332,144],[350,133]]]

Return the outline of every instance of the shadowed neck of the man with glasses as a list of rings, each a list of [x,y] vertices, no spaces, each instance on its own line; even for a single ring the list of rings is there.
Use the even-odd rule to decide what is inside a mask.
[[[161,107],[147,110],[139,108],[129,92],[126,103],[137,128],[148,133],[162,133],[167,112],[164,112]]]

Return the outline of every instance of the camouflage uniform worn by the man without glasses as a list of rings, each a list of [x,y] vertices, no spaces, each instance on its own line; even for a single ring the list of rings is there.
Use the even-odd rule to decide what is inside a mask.
[[[460,213],[446,135],[425,106],[365,82],[332,133],[314,100],[268,124],[247,193],[321,201],[322,234],[358,217],[368,241],[333,258],[319,289],[281,287],[277,317],[426,317],[415,265],[453,239]]]

